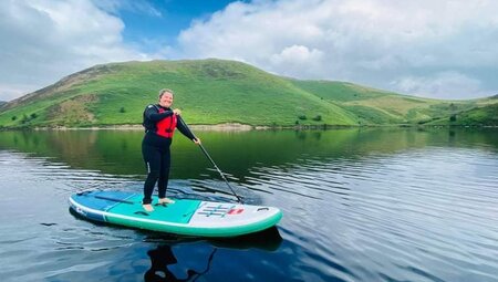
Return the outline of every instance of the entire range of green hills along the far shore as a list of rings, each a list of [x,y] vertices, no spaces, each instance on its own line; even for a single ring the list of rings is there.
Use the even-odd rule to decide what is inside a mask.
[[[0,126],[141,124],[144,107],[156,103],[164,87],[175,91],[174,106],[189,124],[424,124],[498,102],[436,101],[351,83],[299,81],[214,59],[126,62],[90,67],[0,106]]]

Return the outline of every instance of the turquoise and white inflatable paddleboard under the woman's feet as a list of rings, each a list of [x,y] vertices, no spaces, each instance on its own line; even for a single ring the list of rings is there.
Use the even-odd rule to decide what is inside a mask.
[[[142,198],[142,194],[127,191],[87,191],[71,196],[69,203],[90,220],[196,237],[248,234],[270,228],[282,218],[278,208],[191,199],[155,205],[153,212],[145,212]]]

